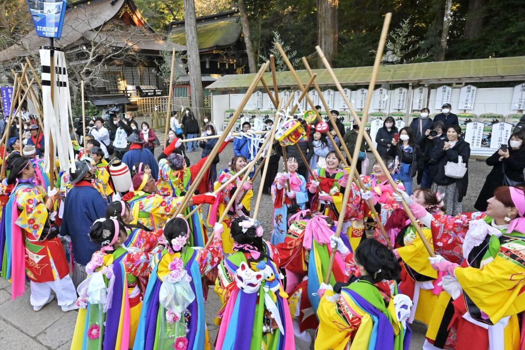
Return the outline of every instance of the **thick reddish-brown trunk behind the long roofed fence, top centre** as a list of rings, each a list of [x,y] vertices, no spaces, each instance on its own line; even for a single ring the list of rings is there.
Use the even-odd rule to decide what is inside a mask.
[[[337,56],[339,0],[317,0],[317,42],[330,65]],[[319,66],[322,66],[319,60]]]

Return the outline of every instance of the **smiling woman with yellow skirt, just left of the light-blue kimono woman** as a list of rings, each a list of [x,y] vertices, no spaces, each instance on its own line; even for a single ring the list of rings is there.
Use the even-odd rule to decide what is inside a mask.
[[[214,191],[216,191],[220,186],[226,183],[233,175],[240,171],[248,164],[246,158],[242,155],[232,157],[230,161],[230,168],[224,169],[220,172],[217,182],[214,185]],[[209,206],[208,211],[208,225],[214,226],[217,220],[223,215],[224,209],[228,205],[230,199],[235,193],[237,186],[243,179],[244,174],[241,174],[237,179],[230,183],[226,188],[224,188],[218,195],[217,201]],[[229,226],[232,224],[232,220],[237,216],[245,216],[250,214],[250,200],[254,196],[253,192],[253,183],[251,180],[248,180],[244,183],[240,192],[237,195],[237,198],[243,198],[242,200],[236,199],[235,203],[230,207],[228,215],[223,220],[224,231],[222,233],[223,240],[223,251],[225,254],[233,253],[233,238],[230,235]]]

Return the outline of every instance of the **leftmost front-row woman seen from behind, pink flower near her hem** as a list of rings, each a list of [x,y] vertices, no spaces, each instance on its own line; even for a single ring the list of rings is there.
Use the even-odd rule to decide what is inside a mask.
[[[80,311],[72,349],[129,349],[142,307],[139,277],[149,273],[148,254],[125,246],[128,232],[116,217],[93,223],[89,238],[102,246],[77,288]]]

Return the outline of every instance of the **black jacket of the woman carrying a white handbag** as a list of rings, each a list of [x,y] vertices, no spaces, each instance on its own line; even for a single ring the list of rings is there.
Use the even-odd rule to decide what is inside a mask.
[[[470,145],[463,139],[458,139],[454,147],[443,150],[445,141],[436,142],[430,154],[430,163],[435,164],[434,182],[438,185],[447,186],[456,183],[458,191],[458,201],[463,200],[467,194],[468,186],[468,158],[470,157]],[[463,163],[467,165],[467,172],[463,178],[452,178],[445,175],[445,165],[448,162],[457,163],[458,157],[463,158]]]

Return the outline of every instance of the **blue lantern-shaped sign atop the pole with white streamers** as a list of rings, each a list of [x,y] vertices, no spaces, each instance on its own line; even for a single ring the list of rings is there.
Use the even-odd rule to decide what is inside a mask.
[[[27,0],[36,34],[60,39],[66,15],[67,0]]]

